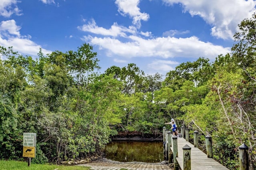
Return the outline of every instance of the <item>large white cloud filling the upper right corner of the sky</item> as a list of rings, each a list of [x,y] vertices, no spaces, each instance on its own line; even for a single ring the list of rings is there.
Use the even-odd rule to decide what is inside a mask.
[[[237,25],[255,12],[254,0],[162,0],[166,4],[182,4],[184,12],[202,17],[212,26],[212,36],[232,39]]]

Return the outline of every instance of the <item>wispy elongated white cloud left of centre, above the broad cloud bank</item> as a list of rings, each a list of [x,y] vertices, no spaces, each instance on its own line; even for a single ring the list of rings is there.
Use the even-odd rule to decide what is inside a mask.
[[[91,32],[93,34],[99,34],[103,36],[122,36],[125,37],[126,33],[136,33],[136,28],[133,26],[130,26],[129,28],[126,28],[124,26],[118,26],[117,23],[114,23],[110,29],[106,29],[103,27],[98,27],[96,25],[96,22],[92,20],[91,22],[88,22],[88,24],[84,24],[83,26],[77,27],[79,30],[85,31],[85,32]]]

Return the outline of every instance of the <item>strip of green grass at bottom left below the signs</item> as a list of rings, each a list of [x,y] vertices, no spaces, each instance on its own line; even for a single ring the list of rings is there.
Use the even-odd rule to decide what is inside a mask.
[[[58,166],[50,164],[30,164],[14,160],[0,160],[0,170],[90,170],[87,166]]]

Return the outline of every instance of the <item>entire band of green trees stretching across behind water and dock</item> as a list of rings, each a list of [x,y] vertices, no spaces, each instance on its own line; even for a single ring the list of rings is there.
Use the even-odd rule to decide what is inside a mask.
[[[102,154],[118,132],[159,137],[165,122],[213,139],[214,158],[238,169],[238,146],[256,168],[256,14],[239,24],[232,53],[182,63],[162,75],[136,64],[104,74],[92,46],[35,60],[0,46],[0,158],[22,159],[22,134],[37,134],[35,163]]]

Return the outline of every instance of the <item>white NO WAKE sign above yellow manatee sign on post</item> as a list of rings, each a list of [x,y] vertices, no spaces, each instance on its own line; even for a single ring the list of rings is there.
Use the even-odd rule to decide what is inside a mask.
[[[36,157],[36,133],[23,133],[23,157],[28,157],[28,166],[31,158]]]

